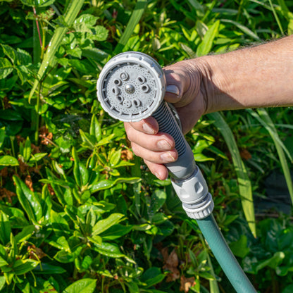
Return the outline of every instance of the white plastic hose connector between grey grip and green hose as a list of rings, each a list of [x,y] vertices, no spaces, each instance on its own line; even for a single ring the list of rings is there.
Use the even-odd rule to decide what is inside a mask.
[[[208,192],[206,180],[198,167],[185,180],[172,178],[172,185],[189,218],[201,220],[212,213],[213,198]]]

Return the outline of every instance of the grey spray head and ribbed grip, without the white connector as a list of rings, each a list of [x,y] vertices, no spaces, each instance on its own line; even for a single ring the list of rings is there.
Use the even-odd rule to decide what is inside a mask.
[[[159,131],[174,138],[178,159],[166,167],[172,177],[183,180],[194,173],[196,164],[172,111],[163,101],[165,90],[161,66],[140,52],[125,52],[111,58],[97,82],[98,99],[110,116],[127,122],[153,116]]]

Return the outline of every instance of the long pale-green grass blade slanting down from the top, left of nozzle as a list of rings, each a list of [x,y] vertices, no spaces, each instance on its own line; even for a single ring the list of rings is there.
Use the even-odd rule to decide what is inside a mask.
[[[41,82],[42,78],[44,77],[44,74],[46,73],[46,69],[49,66],[49,63],[51,60],[54,59],[54,56],[56,54],[56,51],[58,50],[59,46],[61,45],[63,36],[65,35],[66,31],[68,30],[68,27],[73,25],[73,21],[77,17],[77,14],[80,12],[80,9],[82,8],[82,4],[84,3],[84,0],[72,0],[70,1],[70,4],[66,10],[66,13],[64,14],[64,21],[67,24],[67,27],[57,27],[54,35],[49,42],[48,48],[46,49],[46,53],[44,55],[44,59],[42,61],[41,66],[39,67],[39,71],[37,73],[37,80],[35,80],[34,85],[32,86],[32,89],[30,90],[30,96],[29,96],[29,102],[32,99],[32,95],[35,93],[35,90],[37,89],[37,86]]]

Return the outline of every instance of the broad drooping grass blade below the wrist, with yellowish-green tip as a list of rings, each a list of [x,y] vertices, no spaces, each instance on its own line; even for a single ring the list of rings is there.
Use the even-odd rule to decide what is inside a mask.
[[[247,169],[245,168],[242,158],[239,154],[239,149],[232,134],[232,130],[230,129],[229,125],[227,125],[223,116],[220,113],[209,113],[208,118],[215,121],[213,124],[218,128],[221,135],[223,135],[227,147],[230,151],[233,165],[237,174],[239,194],[241,196],[244,215],[247,219],[252,234],[254,235],[254,237],[256,237],[256,222],[254,215],[254,200],[252,197],[251,182],[247,175]]]

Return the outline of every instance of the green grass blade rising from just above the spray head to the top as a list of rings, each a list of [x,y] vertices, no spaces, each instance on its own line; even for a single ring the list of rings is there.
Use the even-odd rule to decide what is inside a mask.
[[[138,0],[135,6],[135,10],[132,12],[130,16],[130,20],[127,23],[125,31],[123,35],[120,37],[120,40],[114,50],[114,54],[118,54],[123,51],[123,48],[127,44],[128,39],[132,35],[133,30],[135,30],[135,26],[139,23],[140,18],[142,18],[142,14],[144,13],[144,8],[146,7],[146,0]]]

